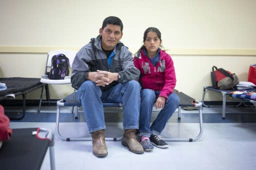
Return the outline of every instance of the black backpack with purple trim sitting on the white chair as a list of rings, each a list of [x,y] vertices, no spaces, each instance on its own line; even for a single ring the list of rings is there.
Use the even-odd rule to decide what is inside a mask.
[[[69,60],[64,54],[53,55],[51,58],[50,72],[47,72],[48,79],[61,80],[69,74]]]

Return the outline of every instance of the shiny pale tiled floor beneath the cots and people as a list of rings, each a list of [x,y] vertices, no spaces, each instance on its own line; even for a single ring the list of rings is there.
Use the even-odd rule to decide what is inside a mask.
[[[89,137],[82,115],[81,121],[74,122],[67,112],[68,109],[61,111],[60,133]],[[167,142],[168,149],[154,148],[142,155],[129,152],[120,141],[107,141],[108,156],[99,159],[92,154],[91,141],[66,142],[55,134],[56,170],[256,170],[255,108],[227,108],[225,120],[220,112],[221,108],[203,108],[203,134],[197,141]],[[161,134],[163,137],[191,138],[198,134],[198,111],[181,113],[179,122],[177,113],[173,114]],[[113,114],[105,114],[107,137],[123,133],[122,123],[119,118],[112,119],[116,116]],[[25,118],[11,121],[10,127],[40,127],[55,132],[54,122],[55,107],[44,107],[40,114],[35,114],[35,108],[27,108]],[[49,170],[48,152],[41,170]]]

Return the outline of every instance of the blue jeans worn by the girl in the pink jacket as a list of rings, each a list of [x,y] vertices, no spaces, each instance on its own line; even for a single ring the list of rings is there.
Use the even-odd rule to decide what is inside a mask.
[[[142,89],[140,91],[140,117],[139,117],[139,136],[150,137],[150,134],[159,135],[164,129],[167,121],[172,116],[173,112],[178,108],[179,97],[172,93],[165,101],[164,108],[158,113],[156,119],[150,127],[150,119],[152,109],[159,95],[159,91],[151,89]]]

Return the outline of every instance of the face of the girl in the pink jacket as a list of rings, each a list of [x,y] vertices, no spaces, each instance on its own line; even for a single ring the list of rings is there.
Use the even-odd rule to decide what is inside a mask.
[[[147,50],[147,53],[154,53],[154,52],[156,53],[156,50],[161,45],[161,41],[158,38],[156,32],[152,32],[152,31],[147,32],[144,45]]]

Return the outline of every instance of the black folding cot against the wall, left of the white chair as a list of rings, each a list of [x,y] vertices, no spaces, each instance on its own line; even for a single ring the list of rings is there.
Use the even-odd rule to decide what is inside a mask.
[[[10,118],[10,120],[21,120],[25,116],[26,94],[42,87],[39,78],[25,78],[25,77],[7,77],[0,78],[0,83],[7,86],[6,90],[0,91],[0,100],[22,95],[23,110],[19,117]]]

